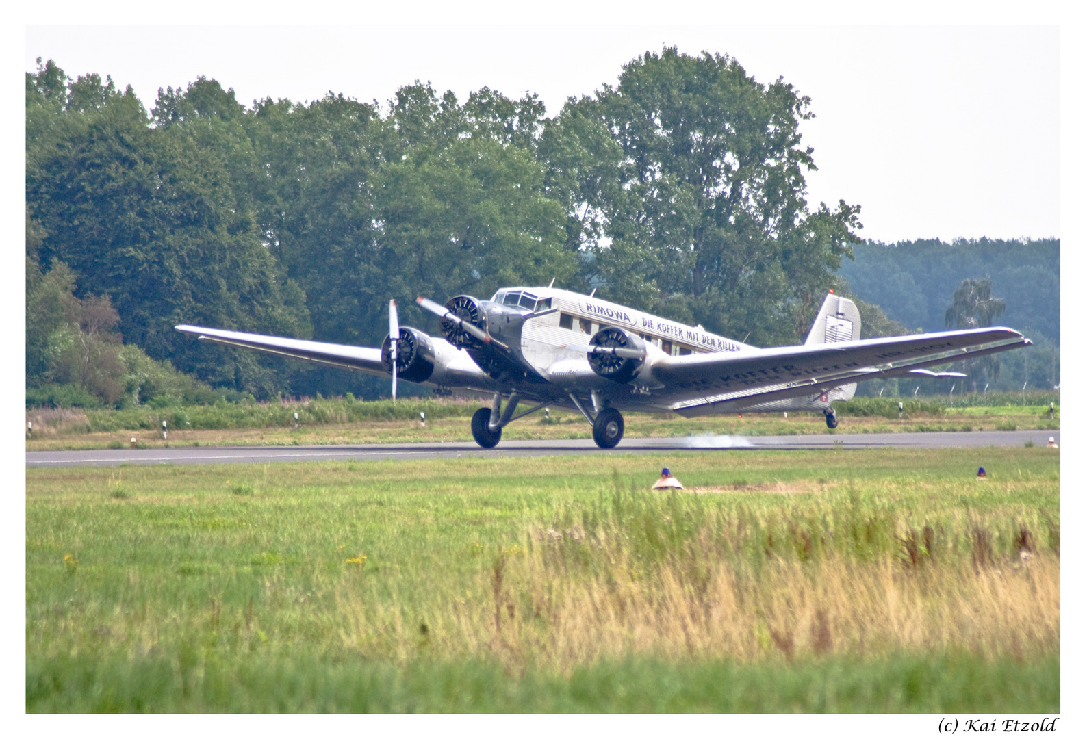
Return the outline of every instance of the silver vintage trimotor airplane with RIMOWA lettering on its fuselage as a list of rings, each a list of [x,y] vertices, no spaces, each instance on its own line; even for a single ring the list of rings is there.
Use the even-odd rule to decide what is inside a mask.
[[[857,305],[833,291],[803,345],[772,349],[550,286],[502,288],[490,300],[458,296],[445,306],[417,302],[441,317],[442,336],[400,326],[393,301],[380,349],[176,328],[207,341],[391,375],[393,399],[398,377],[443,392],[489,394],[490,406],[472,417],[472,436],[486,449],[507,424],[548,405],[580,412],[602,449],[623,438],[623,411],[687,417],[822,411],[834,428],[833,403],[852,398],[860,380],[964,377],[925,367],[1030,343],[1003,327],[861,340]],[[532,408],[516,413],[525,401]]]

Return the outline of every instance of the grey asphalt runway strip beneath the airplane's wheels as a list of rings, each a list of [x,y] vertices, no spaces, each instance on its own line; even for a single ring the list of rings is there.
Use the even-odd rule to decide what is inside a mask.
[[[598,449],[591,439],[503,441],[480,449],[471,441],[317,447],[177,447],[26,452],[26,466],[116,466],[120,464],[225,464],[232,462],[310,462],[327,460],[439,460],[466,456],[560,456],[569,454],[650,454],[662,451],[745,451],[755,449],[947,449],[950,447],[1045,447],[1060,431],[934,431],[928,434],[821,434],[812,436],[687,436],[624,439],[615,449]]]

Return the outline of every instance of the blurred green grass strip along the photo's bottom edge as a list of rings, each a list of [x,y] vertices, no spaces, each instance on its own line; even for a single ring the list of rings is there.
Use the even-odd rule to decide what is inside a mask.
[[[63,676],[63,678],[60,678]],[[1060,704],[1055,657],[1024,664],[971,654],[804,664],[629,659],[570,677],[492,662],[399,668],[310,656],[203,662],[57,657],[27,675],[34,712],[208,713],[1047,713]]]

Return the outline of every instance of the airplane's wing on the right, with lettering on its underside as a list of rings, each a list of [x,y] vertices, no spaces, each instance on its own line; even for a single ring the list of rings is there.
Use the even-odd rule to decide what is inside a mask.
[[[666,400],[671,410],[702,415],[865,379],[928,374],[916,371],[1029,343],[1011,328],[973,328],[758,352],[669,356],[653,363],[650,373],[661,388],[653,394]]]

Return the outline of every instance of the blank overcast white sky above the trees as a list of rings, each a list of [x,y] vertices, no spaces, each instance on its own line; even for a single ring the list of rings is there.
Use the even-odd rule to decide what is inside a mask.
[[[246,104],[329,90],[385,102],[421,79],[462,100],[533,91],[553,115],[665,43],[810,96],[809,201],[860,203],[866,238],[1060,236],[1057,26],[28,26],[25,71],[42,57],[109,74],[148,108],[205,75]]]

